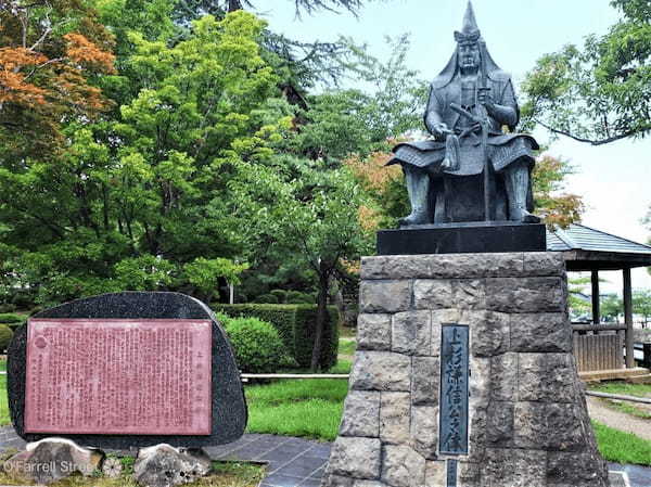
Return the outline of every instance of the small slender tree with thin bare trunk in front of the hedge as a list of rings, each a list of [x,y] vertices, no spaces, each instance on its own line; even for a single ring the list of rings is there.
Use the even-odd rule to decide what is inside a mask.
[[[250,208],[250,225],[260,235],[272,235],[273,246],[298,255],[317,277],[311,369],[318,370],[331,279],[343,260],[359,259],[371,249],[371,235],[359,219],[366,196],[346,168],[323,170],[309,159],[288,156],[281,162],[281,167],[240,165],[231,187]]]

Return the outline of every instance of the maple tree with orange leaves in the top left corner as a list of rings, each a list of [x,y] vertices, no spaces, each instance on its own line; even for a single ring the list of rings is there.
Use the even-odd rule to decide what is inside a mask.
[[[72,120],[110,106],[97,78],[114,73],[112,36],[77,0],[0,5],[0,157],[53,154]]]

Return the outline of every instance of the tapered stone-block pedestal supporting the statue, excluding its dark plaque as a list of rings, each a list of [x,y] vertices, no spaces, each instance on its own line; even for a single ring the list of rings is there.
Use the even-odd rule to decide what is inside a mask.
[[[560,254],[369,257],[361,278],[358,351],[323,486],[609,485]],[[438,435],[449,324],[469,331],[468,452],[454,456]]]

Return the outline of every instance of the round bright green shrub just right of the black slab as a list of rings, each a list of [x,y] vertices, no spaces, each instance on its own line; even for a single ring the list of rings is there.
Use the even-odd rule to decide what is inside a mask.
[[[230,318],[224,324],[242,372],[273,373],[286,362],[282,339],[271,324],[257,318]]]

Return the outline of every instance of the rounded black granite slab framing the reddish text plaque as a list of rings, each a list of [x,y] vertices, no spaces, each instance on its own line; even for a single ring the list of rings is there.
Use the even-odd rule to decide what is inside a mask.
[[[78,445],[105,449],[141,448],[166,443],[177,447],[201,448],[224,445],[244,434],[248,419],[244,390],[234,354],[226,332],[213,311],[202,302],[180,293],[126,292],[103,294],[77,299],[46,309],[34,318],[141,318],[141,319],[201,319],[213,322],[213,424],[207,436],[173,435],[69,435]],[[25,376],[27,324],[14,334],[8,350],[8,395],[14,430],[26,441],[52,436],[25,433]],[[100,412],[101,413],[101,412]]]

